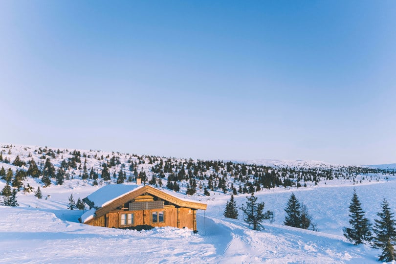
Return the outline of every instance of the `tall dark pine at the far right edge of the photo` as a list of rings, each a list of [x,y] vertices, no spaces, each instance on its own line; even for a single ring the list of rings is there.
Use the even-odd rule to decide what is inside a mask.
[[[394,213],[391,212],[388,201],[384,198],[381,203],[382,211],[377,213],[379,219],[374,220],[373,239],[374,247],[382,249],[379,261],[390,262],[396,257],[396,221],[393,219]]]

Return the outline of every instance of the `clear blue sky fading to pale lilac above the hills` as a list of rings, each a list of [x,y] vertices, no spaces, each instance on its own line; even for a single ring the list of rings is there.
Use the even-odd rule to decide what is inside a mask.
[[[0,1],[0,142],[396,162],[395,1]]]

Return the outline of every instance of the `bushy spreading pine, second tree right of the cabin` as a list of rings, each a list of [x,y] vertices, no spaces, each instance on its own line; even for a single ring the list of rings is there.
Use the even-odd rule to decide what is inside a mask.
[[[241,210],[245,214],[243,220],[249,225],[253,225],[253,230],[260,230],[263,227],[261,222],[265,219],[269,219],[268,213],[263,214],[264,202],[257,202],[257,197],[255,197],[253,193],[250,197],[246,198],[246,205],[241,207]]]

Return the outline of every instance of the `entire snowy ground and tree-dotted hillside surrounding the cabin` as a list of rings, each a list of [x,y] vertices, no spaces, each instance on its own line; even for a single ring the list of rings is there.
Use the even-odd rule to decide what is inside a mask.
[[[396,177],[387,170],[326,164],[312,169],[312,163],[298,163],[298,170],[282,169],[276,168],[279,164],[244,166],[7,144],[1,145],[0,153],[0,168],[6,172],[0,176],[0,190],[7,181],[15,185],[13,189],[20,185],[19,206],[0,206],[0,263],[378,263],[379,250],[354,246],[342,236],[342,228],[348,226],[353,189],[371,221],[384,197],[393,212],[396,209]],[[17,156],[24,164],[13,164]],[[54,172],[44,187],[48,158]],[[27,173],[32,159],[38,176]],[[12,174],[7,179],[9,169]],[[106,170],[110,179],[103,177]],[[29,173],[34,174],[32,170]],[[75,199],[85,198],[104,185],[133,182],[135,176],[146,176],[146,183],[152,180],[159,189],[169,190],[169,183],[172,188],[177,183],[177,196],[185,196],[196,185],[196,192],[188,198],[208,204],[206,212],[198,211],[198,234],[173,227],[140,232],[93,227],[78,222],[86,210],[67,209],[71,194]],[[274,184],[265,187],[267,180]],[[302,187],[297,188],[297,183]],[[27,186],[33,190],[28,192]],[[39,186],[41,199],[34,196]],[[264,223],[265,230],[251,230],[242,220],[242,211],[240,220],[222,216],[234,191],[238,206],[246,202],[245,188],[254,188],[255,196],[265,202],[265,210],[275,214],[272,224]],[[307,205],[318,232],[283,225],[292,192]]]

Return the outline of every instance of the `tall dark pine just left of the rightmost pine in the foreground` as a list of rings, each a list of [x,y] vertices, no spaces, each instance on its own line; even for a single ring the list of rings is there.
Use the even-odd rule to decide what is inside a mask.
[[[344,227],[344,236],[355,245],[361,244],[365,241],[372,240],[371,223],[364,217],[365,212],[361,207],[359,198],[357,197],[356,190],[353,191],[352,201],[349,206],[349,223],[352,228]]]

